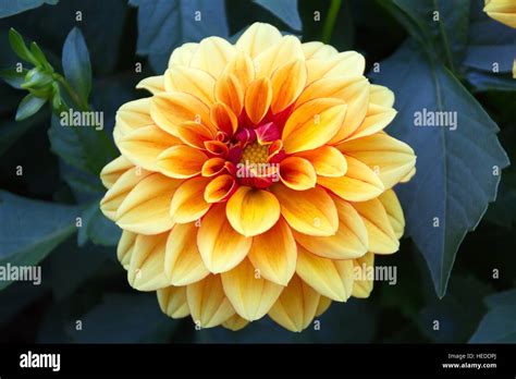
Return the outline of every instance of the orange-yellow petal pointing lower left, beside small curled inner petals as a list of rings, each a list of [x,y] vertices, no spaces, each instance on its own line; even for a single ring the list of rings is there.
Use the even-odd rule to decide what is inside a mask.
[[[209,181],[201,176],[192,178],[177,187],[170,205],[170,216],[174,222],[192,222],[205,216],[210,209],[202,197]]]

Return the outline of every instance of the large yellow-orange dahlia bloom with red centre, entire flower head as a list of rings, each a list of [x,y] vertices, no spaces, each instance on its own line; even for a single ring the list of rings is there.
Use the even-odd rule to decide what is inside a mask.
[[[394,96],[364,68],[260,23],[235,45],[177,48],[138,85],[152,96],[118,111],[121,156],[101,173],[130,284],[170,317],[232,330],[269,315],[300,331],[331,301],[367,297],[356,273],[398,249],[392,187],[416,157],[382,131]]]

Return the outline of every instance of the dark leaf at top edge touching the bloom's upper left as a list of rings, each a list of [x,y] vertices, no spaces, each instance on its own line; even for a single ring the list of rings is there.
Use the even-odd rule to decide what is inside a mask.
[[[209,36],[229,36],[223,0],[130,0],[130,4],[138,7],[137,52],[149,56],[159,73],[176,47]],[[196,15],[201,20],[196,21]]]

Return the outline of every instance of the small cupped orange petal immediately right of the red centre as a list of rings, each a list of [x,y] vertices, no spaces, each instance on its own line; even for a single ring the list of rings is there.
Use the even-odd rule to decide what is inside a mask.
[[[317,183],[314,166],[299,157],[288,157],[281,161],[280,179],[284,185],[297,191],[314,188]]]

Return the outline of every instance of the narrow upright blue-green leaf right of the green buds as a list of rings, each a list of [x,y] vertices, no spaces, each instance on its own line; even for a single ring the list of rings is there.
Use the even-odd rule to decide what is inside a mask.
[[[91,65],[86,41],[77,27],[74,27],[66,36],[62,63],[66,81],[86,105],[91,90]]]

